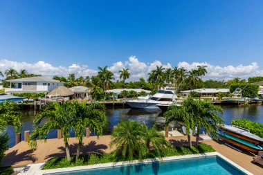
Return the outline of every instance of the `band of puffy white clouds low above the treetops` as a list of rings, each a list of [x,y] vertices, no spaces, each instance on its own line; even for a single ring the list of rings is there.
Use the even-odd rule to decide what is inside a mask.
[[[228,80],[233,77],[248,78],[252,76],[263,76],[263,71],[256,62],[249,65],[239,65],[239,66],[217,66],[209,64],[208,62],[179,62],[177,67],[186,68],[188,71],[191,68],[197,68],[199,65],[205,65],[207,67],[207,75],[203,77],[204,80]],[[100,66],[100,65],[98,65]],[[165,68],[172,68],[170,63],[163,64],[160,60],[155,60],[154,62],[141,62],[137,57],[131,56],[126,62],[115,62],[109,66],[109,71],[112,71],[116,77],[119,79],[119,73],[122,68],[129,68],[129,73],[131,74],[128,81],[138,80],[140,77],[147,80],[148,73],[156,68],[156,66],[163,66]],[[87,65],[71,64],[70,66],[53,66],[52,64],[46,63],[44,61],[39,61],[35,63],[28,62],[15,62],[8,59],[0,59],[0,71],[4,72],[6,69],[15,68],[19,71],[20,69],[26,69],[29,73],[42,74],[46,77],[53,77],[53,75],[63,75],[68,76],[69,73],[75,73],[76,77],[82,76],[92,76],[98,73],[97,70],[89,68]]]

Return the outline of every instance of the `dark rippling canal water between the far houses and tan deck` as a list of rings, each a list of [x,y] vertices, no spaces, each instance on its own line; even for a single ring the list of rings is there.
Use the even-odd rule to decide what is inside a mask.
[[[232,120],[239,118],[246,118],[254,122],[260,122],[263,124],[263,105],[251,104],[248,106],[222,106],[224,109],[224,119],[227,125],[230,125]],[[22,122],[23,128],[21,129],[21,139],[24,139],[24,131],[31,131],[33,126],[33,120],[37,111],[34,109],[22,110]],[[109,129],[107,133],[110,133],[115,125],[121,120],[137,120],[139,122],[145,122],[146,125],[152,127],[156,125],[158,129],[163,129],[164,118],[163,111],[161,110],[141,110],[141,109],[129,109],[129,108],[108,108],[106,112],[109,119]],[[93,135],[94,133],[91,133]],[[8,135],[10,136],[9,146],[15,145],[15,131],[12,127],[8,127]],[[73,131],[71,136],[74,136]],[[48,138],[56,138],[57,131],[51,131]]]

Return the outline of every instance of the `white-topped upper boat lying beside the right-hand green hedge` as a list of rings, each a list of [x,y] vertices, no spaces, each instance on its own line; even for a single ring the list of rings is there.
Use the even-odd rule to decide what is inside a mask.
[[[223,127],[220,127],[220,130],[230,134],[231,136],[235,136],[237,138],[241,138],[255,144],[263,142],[263,138],[255,136],[255,134],[251,133],[248,129],[237,127],[235,125],[224,125]]]

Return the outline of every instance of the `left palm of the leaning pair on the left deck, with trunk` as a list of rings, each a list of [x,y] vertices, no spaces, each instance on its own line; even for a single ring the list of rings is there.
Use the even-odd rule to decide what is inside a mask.
[[[37,114],[33,122],[33,133],[30,135],[30,146],[37,147],[36,140],[48,137],[51,130],[61,129],[66,149],[66,158],[71,160],[69,150],[69,129],[73,123],[74,105],[72,102],[66,101],[62,104],[54,102],[48,105],[41,113]]]

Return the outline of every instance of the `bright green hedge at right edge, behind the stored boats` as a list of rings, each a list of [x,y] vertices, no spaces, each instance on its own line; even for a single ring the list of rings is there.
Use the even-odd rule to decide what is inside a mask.
[[[261,138],[263,138],[263,125],[259,122],[252,122],[251,120],[239,119],[233,120],[231,122],[231,125],[236,125],[238,127],[248,129],[249,131],[251,131],[251,133],[254,133],[256,136],[260,136]]]

